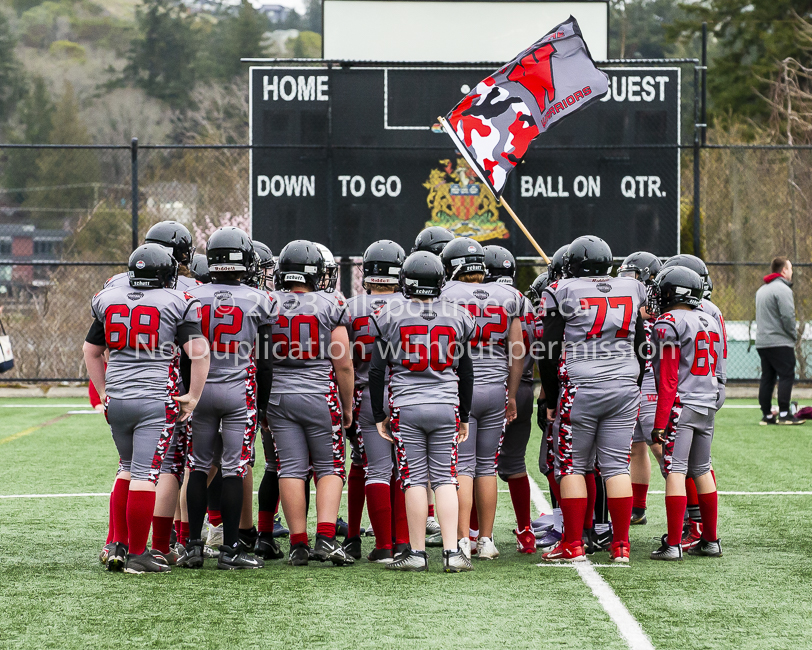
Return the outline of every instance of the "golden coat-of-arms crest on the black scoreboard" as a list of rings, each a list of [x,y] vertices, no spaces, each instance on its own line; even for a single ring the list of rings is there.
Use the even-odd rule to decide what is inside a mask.
[[[457,237],[478,241],[507,239],[508,229],[499,219],[499,209],[493,194],[471,170],[462,156],[439,161],[423,183],[429,191],[426,202],[431,219],[426,227],[442,226]]]

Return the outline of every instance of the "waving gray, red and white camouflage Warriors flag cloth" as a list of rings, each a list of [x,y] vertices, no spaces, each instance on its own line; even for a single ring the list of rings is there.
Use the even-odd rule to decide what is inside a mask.
[[[533,139],[609,90],[570,16],[477,84],[441,123],[498,198]]]

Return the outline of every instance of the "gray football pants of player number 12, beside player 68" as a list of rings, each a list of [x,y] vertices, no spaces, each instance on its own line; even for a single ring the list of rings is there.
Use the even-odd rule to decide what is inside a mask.
[[[256,380],[206,383],[191,423],[189,470],[208,472],[222,443],[223,478],[248,471],[257,431]]]

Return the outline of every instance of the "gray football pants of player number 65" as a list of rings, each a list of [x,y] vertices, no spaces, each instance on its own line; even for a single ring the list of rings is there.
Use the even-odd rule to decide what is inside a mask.
[[[690,406],[675,406],[666,428],[663,445],[663,472],[685,474],[691,478],[710,472],[710,448],[716,411],[703,415]]]

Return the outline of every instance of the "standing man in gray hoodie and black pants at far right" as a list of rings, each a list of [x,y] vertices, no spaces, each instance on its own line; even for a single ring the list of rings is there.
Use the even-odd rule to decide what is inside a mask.
[[[795,380],[795,299],[792,295],[792,262],[786,257],[772,261],[770,274],[756,292],[756,350],[761,357],[758,403],[759,424],[803,424],[790,412]],[[772,413],[772,394],[778,378],[778,417]]]

